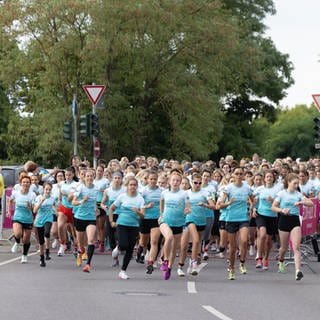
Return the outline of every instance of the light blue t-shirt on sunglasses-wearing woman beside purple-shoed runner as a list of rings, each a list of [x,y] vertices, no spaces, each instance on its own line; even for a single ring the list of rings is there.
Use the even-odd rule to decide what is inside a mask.
[[[192,222],[196,226],[206,225],[206,208],[203,206],[199,206],[199,202],[208,204],[208,192],[205,190],[200,190],[197,192],[188,190],[187,197],[189,198],[191,213],[186,215],[186,223]]]

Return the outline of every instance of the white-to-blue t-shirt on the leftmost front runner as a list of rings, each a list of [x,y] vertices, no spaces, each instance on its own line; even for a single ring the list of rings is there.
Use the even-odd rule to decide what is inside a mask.
[[[33,214],[32,210],[28,208],[28,203],[29,205],[34,205],[36,194],[31,190],[27,194],[23,194],[21,190],[18,190],[12,193],[11,199],[15,202],[13,220],[31,224],[33,222]]]

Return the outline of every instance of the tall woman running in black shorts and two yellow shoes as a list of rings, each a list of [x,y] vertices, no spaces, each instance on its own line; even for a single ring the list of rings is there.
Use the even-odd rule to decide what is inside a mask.
[[[228,215],[226,217],[226,230],[229,241],[229,280],[235,279],[234,264],[237,251],[237,233],[240,238],[240,266],[241,274],[246,274],[245,267],[248,243],[249,215],[248,202],[250,203],[250,213],[253,209],[254,198],[252,190],[247,183],[242,180],[244,171],[241,167],[236,167],[233,176],[234,182],[229,184],[222,195],[221,203],[227,205]]]

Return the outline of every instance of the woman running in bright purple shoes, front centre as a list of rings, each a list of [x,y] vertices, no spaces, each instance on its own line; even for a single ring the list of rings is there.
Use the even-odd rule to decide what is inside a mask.
[[[164,237],[164,246],[160,270],[163,271],[164,280],[170,279],[177,247],[181,243],[185,214],[190,213],[187,194],[180,190],[181,180],[181,174],[172,172],[169,178],[170,188],[161,194],[159,223]]]

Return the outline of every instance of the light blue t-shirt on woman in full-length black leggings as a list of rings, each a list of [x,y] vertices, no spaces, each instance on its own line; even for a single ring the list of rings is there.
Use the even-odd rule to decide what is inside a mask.
[[[113,205],[118,208],[118,225],[139,227],[140,217],[135,211],[132,210],[132,208],[138,208],[141,210],[144,206],[144,199],[139,193],[133,197],[129,196],[127,193],[122,193],[114,201]]]

